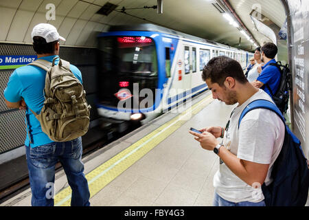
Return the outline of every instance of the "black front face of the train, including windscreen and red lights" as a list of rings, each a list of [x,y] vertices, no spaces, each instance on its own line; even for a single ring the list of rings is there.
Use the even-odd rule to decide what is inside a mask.
[[[155,94],[158,87],[157,50],[155,41],[146,36],[104,36],[98,39],[98,100],[100,103],[117,107],[119,98],[115,94],[120,89],[134,93],[138,89],[150,89]],[[150,98],[151,99],[151,98]],[[139,102],[144,97],[137,98]],[[130,98],[131,109],[136,106],[136,98]],[[147,102],[143,108],[155,103]],[[144,104],[144,103],[143,103]]]

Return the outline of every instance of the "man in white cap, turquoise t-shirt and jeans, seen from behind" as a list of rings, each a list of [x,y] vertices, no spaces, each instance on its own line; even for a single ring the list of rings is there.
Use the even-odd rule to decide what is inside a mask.
[[[53,25],[40,23],[32,33],[33,48],[38,59],[52,62],[59,55],[59,40],[65,41]],[[56,58],[57,65],[59,58]],[[80,70],[70,65],[71,72],[82,83]],[[53,142],[43,133],[41,124],[32,111],[40,113],[43,102],[46,71],[26,65],[15,69],[4,90],[9,108],[26,109],[25,150],[32,190],[32,206],[54,206],[55,165],[62,164],[72,189],[71,206],[90,206],[89,188],[82,164],[82,139]]]

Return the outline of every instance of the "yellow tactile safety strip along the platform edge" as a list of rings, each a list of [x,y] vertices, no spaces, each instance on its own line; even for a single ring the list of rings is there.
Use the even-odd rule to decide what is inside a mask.
[[[155,131],[152,131],[145,137],[141,138],[134,144],[128,146],[124,151],[118,153],[104,164],[98,166],[86,175],[89,185],[90,197],[93,197],[104,186],[113,181],[118,175],[124,172],[127,168],[133,165],[137,160],[146,155],[152,148],[157,146],[166,137],[171,135],[180,126],[185,124],[187,120],[192,118],[201,111],[213,99],[211,95],[194,104],[194,106],[183,111],[180,115],[169,122],[163,124]],[[70,206],[71,203],[71,188],[68,186],[54,197],[55,206]]]

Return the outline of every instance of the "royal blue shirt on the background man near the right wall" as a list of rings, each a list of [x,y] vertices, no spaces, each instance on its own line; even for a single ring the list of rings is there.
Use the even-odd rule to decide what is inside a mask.
[[[271,91],[273,94],[275,94],[277,91],[280,84],[281,73],[277,67],[269,65],[270,63],[276,63],[275,59],[268,61],[268,63],[262,67],[262,72],[256,80],[264,83],[261,89],[263,89],[266,94],[272,97]],[[266,87],[266,84],[271,87],[271,91],[269,91],[269,89]]]

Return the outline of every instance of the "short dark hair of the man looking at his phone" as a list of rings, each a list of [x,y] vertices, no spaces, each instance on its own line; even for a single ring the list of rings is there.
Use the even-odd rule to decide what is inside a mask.
[[[244,84],[248,80],[244,76],[244,71],[240,63],[227,56],[217,56],[212,58],[203,69],[202,78],[204,81],[211,80],[211,83],[218,83],[223,86],[227,77],[233,77],[238,82]]]

